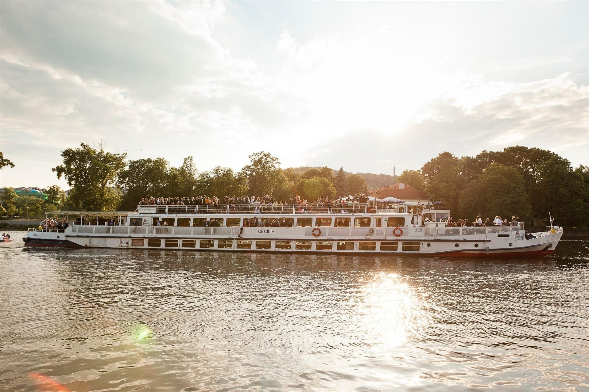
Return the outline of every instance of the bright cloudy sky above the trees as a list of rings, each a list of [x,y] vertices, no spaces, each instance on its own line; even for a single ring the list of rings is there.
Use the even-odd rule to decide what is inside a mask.
[[[421,168],[548,148],[589,164],[589,2],[0,2],[2,186],[80,142],[239,170]]]

